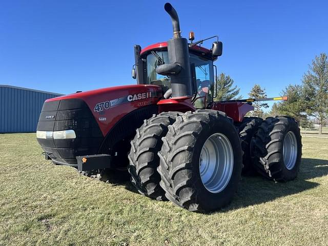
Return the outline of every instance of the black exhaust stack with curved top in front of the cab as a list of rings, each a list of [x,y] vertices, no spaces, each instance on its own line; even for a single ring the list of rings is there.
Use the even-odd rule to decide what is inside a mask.
[[[194,92],[192,89],[188,40],[180,35],[179,17],[175,9],[169,3],[166,3],[164,8],[172,19],[173,38],[168,40],[169,63],[158,66],[156,72],[171,78],[172,97],[191,96]]]

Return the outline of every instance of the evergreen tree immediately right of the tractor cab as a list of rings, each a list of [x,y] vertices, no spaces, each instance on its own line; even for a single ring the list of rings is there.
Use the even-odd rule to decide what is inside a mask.
[[[224,73],[217,76],[216,97],[214,101],[240,99],[238,96],[240,89],[234,86],[234,80]]]

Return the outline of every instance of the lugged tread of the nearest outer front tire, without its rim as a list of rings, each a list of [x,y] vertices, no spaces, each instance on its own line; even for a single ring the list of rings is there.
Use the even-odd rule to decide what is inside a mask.
[[[157,168],[161,176],[160,186],[170,201],[192,212],[206,212],[197,199],[197,189],[193,187],[194,142],[202,129],[209,128],[214,120],[226,120],[232,125],[232,119],[223,112],[197,110],[177,116],[166,136],[162,137],[164,144],[159,152],[160,165]],[[181,163],[181,160],[184,161]]]

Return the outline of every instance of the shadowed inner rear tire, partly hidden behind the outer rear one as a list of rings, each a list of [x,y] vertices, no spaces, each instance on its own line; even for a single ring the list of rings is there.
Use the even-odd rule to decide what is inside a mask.
[[[250,176],[257,173],[252,163],[251,142],[262,121],[263,119],[258,117],[244,117],[240,126],[238,127],[241,149],[243,151],[243,167],[241,170],[242,175]]]

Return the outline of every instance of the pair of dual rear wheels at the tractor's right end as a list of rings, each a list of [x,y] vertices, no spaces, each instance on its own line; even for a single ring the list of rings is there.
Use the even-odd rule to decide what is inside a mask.
[[[276,181],[296,178],[301,163],[302,144],[295,119],[244,117],[237,127],[243,150],[242,174],[261,174]]]

